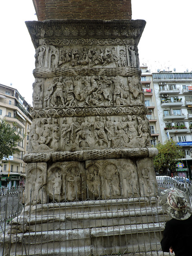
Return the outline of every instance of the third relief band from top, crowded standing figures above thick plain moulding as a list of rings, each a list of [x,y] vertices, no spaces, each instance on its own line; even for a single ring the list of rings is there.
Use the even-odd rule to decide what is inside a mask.
[[[55,122],[56,121],[56,122]],[[76,151],[150,146],[144,115],[36,118],[29,152]]]

